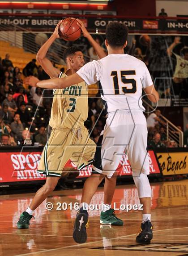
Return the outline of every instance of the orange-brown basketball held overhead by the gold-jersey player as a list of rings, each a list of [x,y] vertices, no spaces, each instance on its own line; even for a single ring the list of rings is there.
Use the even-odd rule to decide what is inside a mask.
[[[75,41],[81,36],[81,28],[75,18],[65,18],[59,26],[59,35],[66,41]]]

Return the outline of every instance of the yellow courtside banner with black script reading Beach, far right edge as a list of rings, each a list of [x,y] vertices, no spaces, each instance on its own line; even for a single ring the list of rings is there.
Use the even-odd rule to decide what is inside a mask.
[[[188,149],[167,148],[169,152],[158,152],[162,175],[188,174]],[[179,152],[178,152],[179,151]],[[183,152],[180,152],[183,151]]]

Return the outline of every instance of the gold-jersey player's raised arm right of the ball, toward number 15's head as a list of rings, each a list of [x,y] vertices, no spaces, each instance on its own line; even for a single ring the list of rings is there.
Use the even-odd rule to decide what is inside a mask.
[[[106,57],[107,54],[105,53],[103,47],[98,45],[98,43],[93,39],[93,37],[90,35],[90,33],[84,27],[84,23],[81,22],[81,20],[77,19],[77,25],[81,28],[83,35],[87,38],[87,40],[93,46],[94,50],[96,51],[96,54],[98,55],[98,58],[100,59],[100,58]]]

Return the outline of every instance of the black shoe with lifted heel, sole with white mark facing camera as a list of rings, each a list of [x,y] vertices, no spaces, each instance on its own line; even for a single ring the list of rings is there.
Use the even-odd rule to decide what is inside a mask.
[[[88,212],[83,207],[77,213],[74,223],[73,238],[76,243],[85,243],[87,240],[86,228],[88,228]]]

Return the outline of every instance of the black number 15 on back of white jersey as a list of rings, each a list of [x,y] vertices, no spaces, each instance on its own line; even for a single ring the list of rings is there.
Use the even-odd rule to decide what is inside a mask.
[[[122,87],[122,90],[124,93],[136,93],[137,91],[137,81],[133,78],[131,79],[127,79],[125,76],[128,75],[135,75],[136,72],[135,70],[124,70],[121,71],[121,81],[124,84],[132,84],[132,88],[128,89],[126,86]],[[115,94],[120,94],[120,88],[119,88],[119,84],[118,84],[118,74],[117,71],[112,71],[111,72],[111,76],[113,77],[113,81],[114,81],[114,89],[115,89]]]

